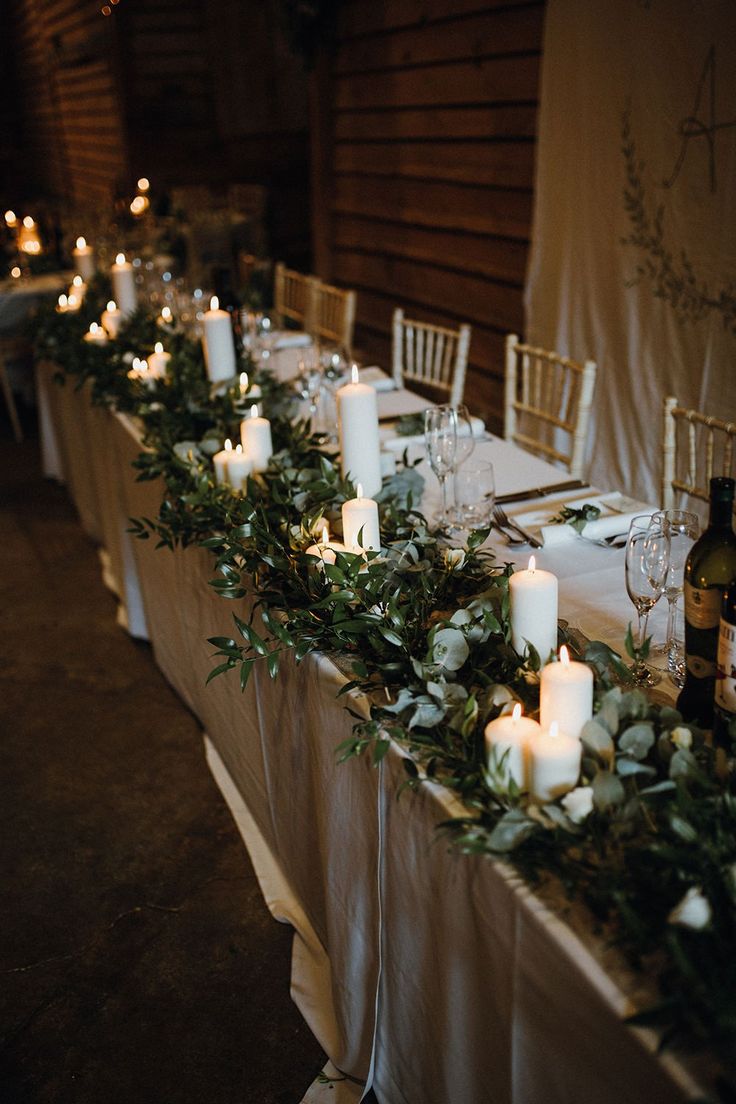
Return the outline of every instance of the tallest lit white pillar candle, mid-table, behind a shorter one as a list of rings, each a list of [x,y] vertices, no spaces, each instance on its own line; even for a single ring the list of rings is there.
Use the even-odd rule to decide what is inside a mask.
[[[362,484],[365,493],[381,490],[381,439],[375,388],[361,383],[353,364],[352,383],[338,391],[341,470],[344,479]]]

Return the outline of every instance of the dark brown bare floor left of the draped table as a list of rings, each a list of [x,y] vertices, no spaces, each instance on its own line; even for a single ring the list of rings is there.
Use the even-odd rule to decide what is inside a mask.
[[[290,930],[195,719],[4,421],[0,641],[0,1101],[298,1104],[324,1058]]]

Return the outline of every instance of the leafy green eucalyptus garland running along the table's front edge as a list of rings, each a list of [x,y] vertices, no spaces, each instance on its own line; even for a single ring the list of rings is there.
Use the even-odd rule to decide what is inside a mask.
[[[88,381],[93,402],[135,415],[146,446],[138,479],[166,485],[157,518],[131,530],[162,546],[211,550],[215,591],[254,598],[249,619],[233,615],[233,636],[212,639],[210,679],[227,671],[246,686],[255,664],[278,673],[281,657],[314,649],[339,655],[352,678],[341,693],[364,691],[370,718],[351,709],[352,736],[342,760],[390,742],[406,755],[406,787],[440,782],[466,815],[442,824],[471,854],[503,857],[530,882],[554,875],[648,976],[660,1000],[633,1018],[662,1029],[662,1041],[710,1047],[722,1070],[714,1092],[736,1084],[736,797],[734,764],[707,734],[628,681],[628,669],[600,643],[561,628],[596,677],[596,713],[584,730],[580,785],[537,806],[513,786],[504,792],[484,762],[483,728],[511,700],[538,709],[538,657],[510,644],[511,566],[483,548],[448,548],[418,509],[422,479],[404,465],[380,495],[381,553],[340,553],[323,572],[306,555],[322,519],[339,527],[354,488],[329,448],[292,421],[289,390],[257,373],[271,421],[275,455],[244,493],[216,486],[212,454],[238,437],[239,389],[213,393],[200,343],[170,328],[166,379],[130,379],[135,357],[162,331],[140,310],[116,341],[83,340],[108,290],[90,288],[77,314],[47,310],[38,321],[38,354],[60,365],[60,382]],[[246,364],[253,370],[253,364]],[[241,608],[238,606],[238,608]],[[579,644],[579,641],[578,641]],[[579,655],[583,650],[583,656]],[[729,1087],[730,1086],[730,1087]]]

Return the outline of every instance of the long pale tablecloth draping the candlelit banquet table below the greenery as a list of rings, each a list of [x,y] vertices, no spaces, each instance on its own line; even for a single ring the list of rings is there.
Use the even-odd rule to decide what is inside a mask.
[[[228,634],[228,606],[207,586],[202,549],[134,541],[130,517],[156,517],[162,487],[137,482],[136,425],[95,408],[84,389],[38,369],[44,469],[70,488],[103,550],[128,630],[200,719],[207,763],[248,848],[266,904],[294,926],[292,996],[345,1080],[329,1098],[381,1104],[674,1104],[702,1098],[692,1068],[657,1053],[652,1032],[622,1022],[653,997],[589,917],[554,887],[532,893],[504,863],[438,839],[460,814],[437,785],[397,799],[404,752],[377,768],[338,764],[351,720],[328,658],[286,662],[276,682],[256,667],[205,686],[207,637]],[[561,473],[491,438],[497,491],[557,482]],[[427,478],[427,509],[437,500]],[[574,539],[542,550],[559,577],[561,616],[620,648],[633,616],[622,553]],[[570,552],[570,548],[574,552]],[[498,546],[505,561],[523,553]],[[521,558],[521,559],[520,559]],[[238,612],[243,613],[242,609]],[[662,631],[661,615],[655,631]],[[365,708],[353,697],[352,708]],[[305,1100],[323,1098],[312,1089]]]

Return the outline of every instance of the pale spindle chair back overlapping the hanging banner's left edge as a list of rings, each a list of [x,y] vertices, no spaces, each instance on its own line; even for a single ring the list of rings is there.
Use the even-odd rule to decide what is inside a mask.
[[[580,478],[585,467],[596,363],[505,342],[504,437],[527,452],[564,464]]]

